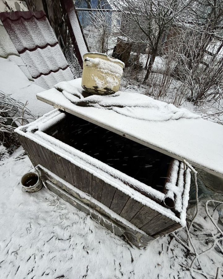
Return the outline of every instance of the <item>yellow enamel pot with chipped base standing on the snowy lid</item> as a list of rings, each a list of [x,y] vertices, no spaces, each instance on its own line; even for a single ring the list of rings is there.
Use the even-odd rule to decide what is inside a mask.
[[[85,91],[109,95],[119,90],[125,64],[107,54],[86,53],[81,86]]]

